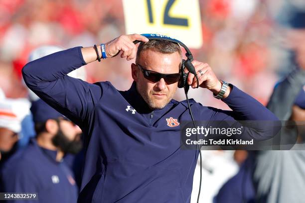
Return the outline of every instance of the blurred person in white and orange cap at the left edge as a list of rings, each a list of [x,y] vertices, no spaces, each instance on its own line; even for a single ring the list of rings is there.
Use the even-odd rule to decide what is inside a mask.
[[[7,99],[0,89],[0,166],[17,150],[21,122],[29,114],[26,99]]]

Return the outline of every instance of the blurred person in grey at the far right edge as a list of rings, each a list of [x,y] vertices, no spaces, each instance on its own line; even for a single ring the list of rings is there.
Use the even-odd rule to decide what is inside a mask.
[[[297,142],[289,151],[258,152],[253,171],[258,203],[304,202],[305,29],[290,31],[288,36],[297,66],[276,85],[267,107],[281,120],[293,120],[297,123],[298,129],[288,129],[284,132],[281,144],[289,144],[291,140]]]

